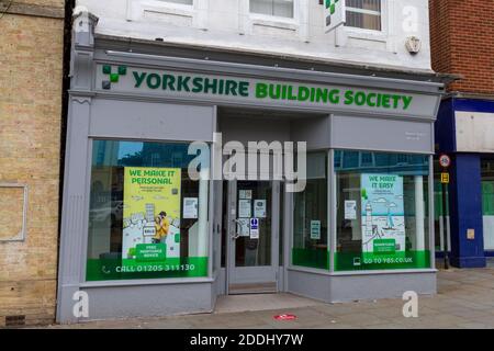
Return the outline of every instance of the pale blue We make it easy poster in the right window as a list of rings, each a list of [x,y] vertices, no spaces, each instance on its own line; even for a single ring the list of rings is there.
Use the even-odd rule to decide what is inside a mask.
[[[405,256],[403,177],[362,174],[361,208],[364,263]]]

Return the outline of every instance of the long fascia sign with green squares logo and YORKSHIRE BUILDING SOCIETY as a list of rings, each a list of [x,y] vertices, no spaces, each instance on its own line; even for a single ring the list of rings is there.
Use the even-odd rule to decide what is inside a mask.
[[[437,97],[340,84],[305,83],[141,67],[98,65],[100,92],[153,98],[430,117]]]

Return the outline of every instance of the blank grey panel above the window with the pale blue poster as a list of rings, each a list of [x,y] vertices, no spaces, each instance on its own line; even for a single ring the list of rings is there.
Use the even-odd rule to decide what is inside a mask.
[[[336,149],[434,154],[431,123],[335,115],[330,132]]]

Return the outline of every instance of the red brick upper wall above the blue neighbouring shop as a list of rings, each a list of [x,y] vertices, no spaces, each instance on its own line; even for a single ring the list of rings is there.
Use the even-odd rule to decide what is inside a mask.
[[[450,91],[494,94],[494,1],[430,0],[433,68],[457,73]]]

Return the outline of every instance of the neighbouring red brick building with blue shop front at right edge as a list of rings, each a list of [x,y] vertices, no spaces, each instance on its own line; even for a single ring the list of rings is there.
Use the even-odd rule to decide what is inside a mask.
[[[430,0],[429,8],[433,68],[461,77],[436,123],[438,154],[452,157],[451,262],[483,267],[494,252],[494,1]],[[438,227],[440,235],[447,226]]]

